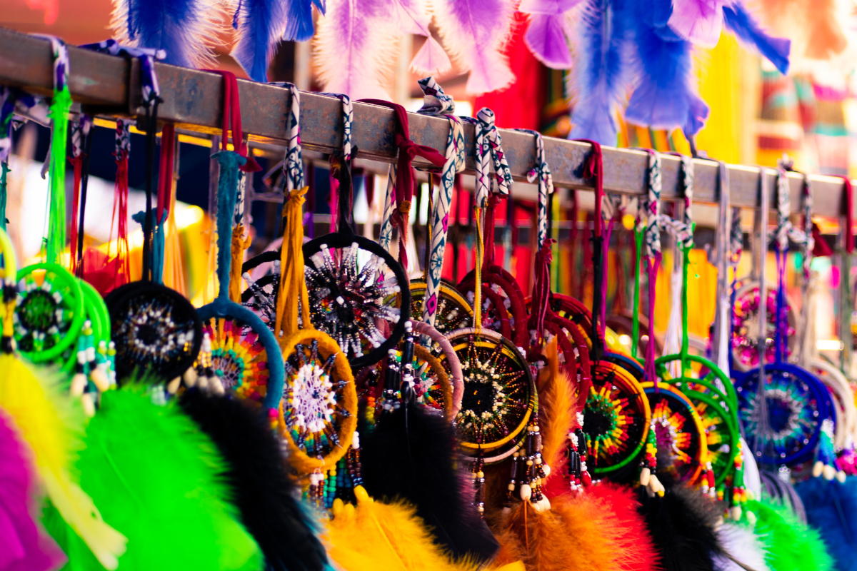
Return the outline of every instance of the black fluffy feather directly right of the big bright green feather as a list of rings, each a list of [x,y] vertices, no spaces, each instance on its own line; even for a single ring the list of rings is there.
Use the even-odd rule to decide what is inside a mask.
[[[268,571],[321,571],[324,547],[300,503],[297,484],[261,408],[230,396],[188,390],[179,400],[227,462],[226,479],[241,520],[265,554]]]

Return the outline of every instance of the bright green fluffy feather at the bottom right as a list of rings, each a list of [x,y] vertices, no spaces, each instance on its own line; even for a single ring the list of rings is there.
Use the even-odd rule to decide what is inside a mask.
[[[771,571],[834,568],[818,532],[800,523],[788,508],[768,500],[751,500],[746,509],[756,514],[753,532],[768,551],[765,561]]]

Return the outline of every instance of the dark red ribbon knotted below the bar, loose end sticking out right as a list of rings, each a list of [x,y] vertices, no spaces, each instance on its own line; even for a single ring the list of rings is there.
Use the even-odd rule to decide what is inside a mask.
[[[415,172],[411,163],[414,158],[422,157],[434,166],[441,168],[446,163],[446,158],[430,146],[417,145],[411,140],[411,131],[408,127],[408,112],[399,104],[382,99],[360,99],[361,103],[381,105],[395,111],[399,118],[399,130],[396,132],[395,143],[399,147],[399,159],[396,164],[396,210],[393,211],[391,219],[393,225],[399,229],[399,262],[403,267],[408,264],[408,256],[405,253],[405,240],[407,236],[408,212],[401,209],[402,202],[411,202],[414,195]]]

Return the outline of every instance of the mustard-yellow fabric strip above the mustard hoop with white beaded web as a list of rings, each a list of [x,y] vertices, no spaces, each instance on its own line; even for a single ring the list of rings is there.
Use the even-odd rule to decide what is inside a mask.
[[[280,253],[280,271],[277,296],[277,318],[274,335],[280,341],[297,333],[298,300],[301,325],[311,329],[309,320],[309,294],[303,277],[303,201],[309,187],[292,190],[285,203],[285,235]]]

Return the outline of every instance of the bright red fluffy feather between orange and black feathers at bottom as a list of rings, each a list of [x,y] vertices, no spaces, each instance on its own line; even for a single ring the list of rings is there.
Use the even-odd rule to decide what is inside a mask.
[[[623,571],[659,571],[661,557],[652,542],[631,488],[602,480],[586,489],[612,526],[610,541]],[[761,571],[761,570],[759,570]]]

